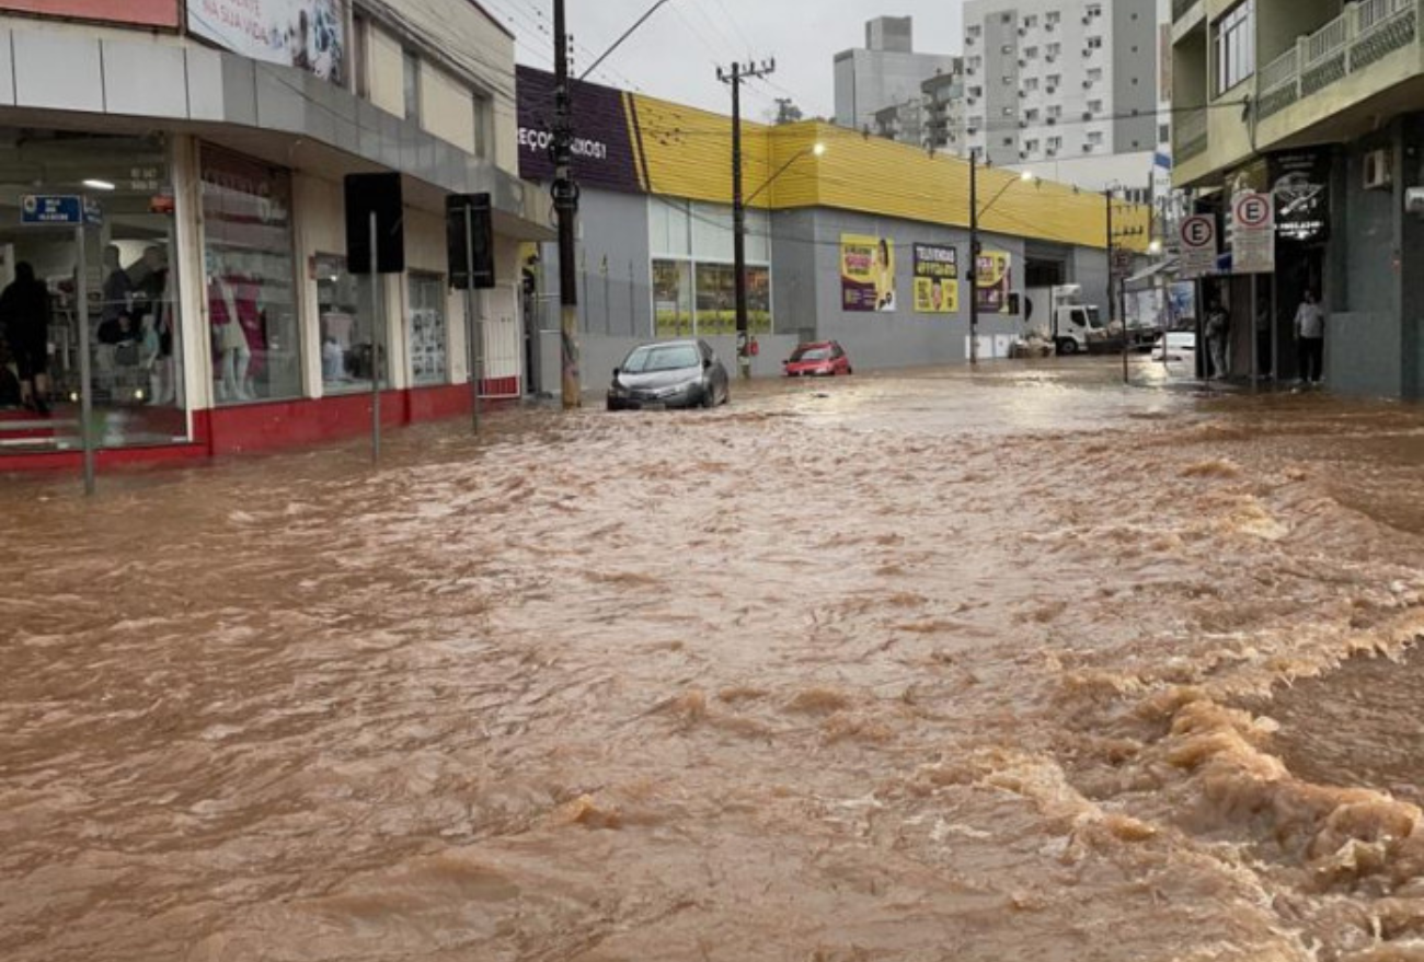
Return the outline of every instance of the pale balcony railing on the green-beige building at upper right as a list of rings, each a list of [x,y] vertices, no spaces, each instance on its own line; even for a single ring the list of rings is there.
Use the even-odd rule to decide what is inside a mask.
[[[1397,50],[1420,43],[1424,0],[1360,0],[1263,67],[1256,77],[1259,118],[1319,94]]]

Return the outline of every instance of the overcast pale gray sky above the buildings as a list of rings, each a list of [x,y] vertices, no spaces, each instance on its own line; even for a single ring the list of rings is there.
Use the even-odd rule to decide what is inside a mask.
[[[523,64],[551,65],[551,0],[480,0],[518,37]],[[568,0],[578,44],[575,70],[632,26],[654,0]],[[607,61],[594,80],[654,97],[726,112],[731,100],[716,65],[776,57],[769,83],[748,85],[746,115],[762,118],[775,98],[790,97],[807,117],[834,112],[832,60],[864,44],[866,20],[913,16],[914,47],[958,53],[961,0],[669,0]],[[581,65],[580,65],[581,63]]]

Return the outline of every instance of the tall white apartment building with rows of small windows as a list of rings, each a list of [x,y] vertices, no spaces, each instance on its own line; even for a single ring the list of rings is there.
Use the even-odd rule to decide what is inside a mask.
[[[965,141],[997,166],[1148,191],[1171,142],[1168,0],[968,0]]]

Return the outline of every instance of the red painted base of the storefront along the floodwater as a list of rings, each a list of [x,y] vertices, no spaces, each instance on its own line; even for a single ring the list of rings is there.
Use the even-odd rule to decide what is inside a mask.
[[[507,407],[518,397],[518,379],[498,379],[484,386],[487,408]],[[382,391],[383,427],[406,427],[470,413],[466,384]],[[256,454],[360,437],[370,431],[370,394],[343,394],[320,400],[242,404],[195,411],[194,440],[188,444],[104,448],[95,453],[100,470],[141,464],[204,461],[228,454]],[[0,474],[9,471],[78,471],[78,451],[0,454]]]

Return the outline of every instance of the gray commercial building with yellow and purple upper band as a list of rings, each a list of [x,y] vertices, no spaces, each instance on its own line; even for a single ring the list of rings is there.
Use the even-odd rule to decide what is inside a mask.
[[[538,125],[548,75],[520,68],[521,174],[547,184]],[[580,84],[585,149],[575,273],[585,390],[608,383],[638,343],[705,337],[735,357],[733,231],[725,117]],[[679,135],[695,128],[702,137]],[[1005,357],[1027,332],[1030,287],[1077,283],[1106,306],[1102,205],[1062,185],[984,174],[983,246],[994,269],[968,282],[967,164],[914,147],[805,122],[745,125],[746,265],[756,376],[776,376],[805,340],[839,340],[857,370],[953,364],[970,347],[970,297],[981,305],[980,356]],[[822,149],[817,152],[815,147]],[[768,181],[758,185],[758,181]],[[1038,226],[1040,215],[1054,228]],[[995,218],[1000,218],[995,221]],[[560,390],[557,245],[525,252],[531,367]],[[1041,323],[1042,314],[1032,317]]]

